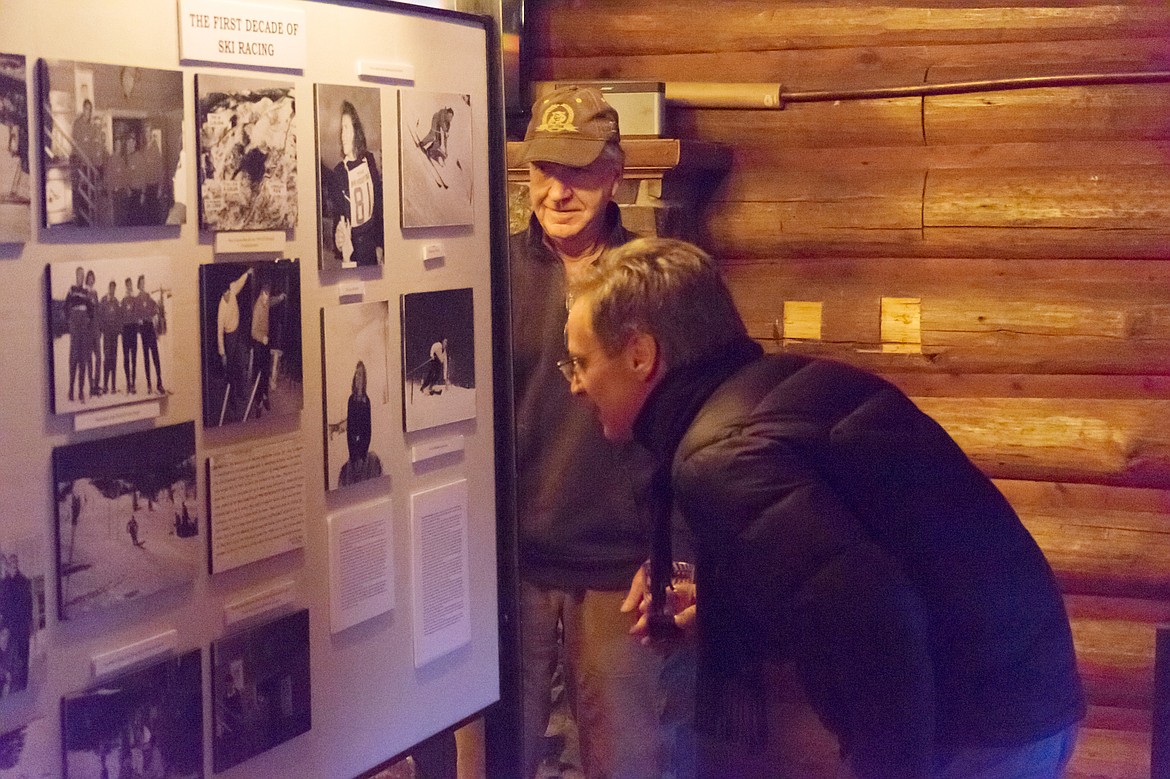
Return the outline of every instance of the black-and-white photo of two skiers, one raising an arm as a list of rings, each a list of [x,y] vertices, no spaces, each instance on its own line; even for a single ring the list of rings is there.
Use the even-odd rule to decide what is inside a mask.
[[[301,263],[199,266],[204,427],[296,414],[301,373]]]

